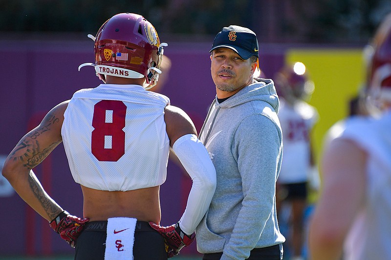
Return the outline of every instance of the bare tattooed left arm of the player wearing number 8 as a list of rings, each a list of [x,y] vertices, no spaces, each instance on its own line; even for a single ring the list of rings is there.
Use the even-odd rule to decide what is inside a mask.
[[[19,141],[2,171],[21,198],[49,221],[63,209],[44,191],[32,169],[62,142],[61,127],[67,104],[65,101],[50,110],[42,122]]]

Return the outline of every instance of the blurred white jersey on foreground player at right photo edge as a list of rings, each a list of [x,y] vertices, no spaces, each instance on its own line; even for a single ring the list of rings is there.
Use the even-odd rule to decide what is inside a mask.
[[[345,122],[341,137],[353,140],[368,155],[365,205],[353,220],[345,242],[346,260],[391,257],[391,112],[380,119]]]

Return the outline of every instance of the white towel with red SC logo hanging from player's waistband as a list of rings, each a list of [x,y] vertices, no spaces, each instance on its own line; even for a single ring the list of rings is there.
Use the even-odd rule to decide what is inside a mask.
[[[136,222],[132,218],[108,219],[105,260],[133,259]]]

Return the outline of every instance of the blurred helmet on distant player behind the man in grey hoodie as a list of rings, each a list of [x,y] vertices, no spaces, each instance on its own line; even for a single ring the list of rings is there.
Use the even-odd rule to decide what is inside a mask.
[[[314,91],[314,84],[308,80],[302,62],[284,66],[276,74],[275,81],[277,94],[286,100],[304,100]]]

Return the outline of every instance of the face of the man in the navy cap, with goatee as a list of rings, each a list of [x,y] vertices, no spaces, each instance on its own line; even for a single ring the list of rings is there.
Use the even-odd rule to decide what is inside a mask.
[[[250,59],[243,60],[234,50],[217,48],[212,51],[211,61],[211,74],[218,98],[232,96],[252,83],[257,63]]]

